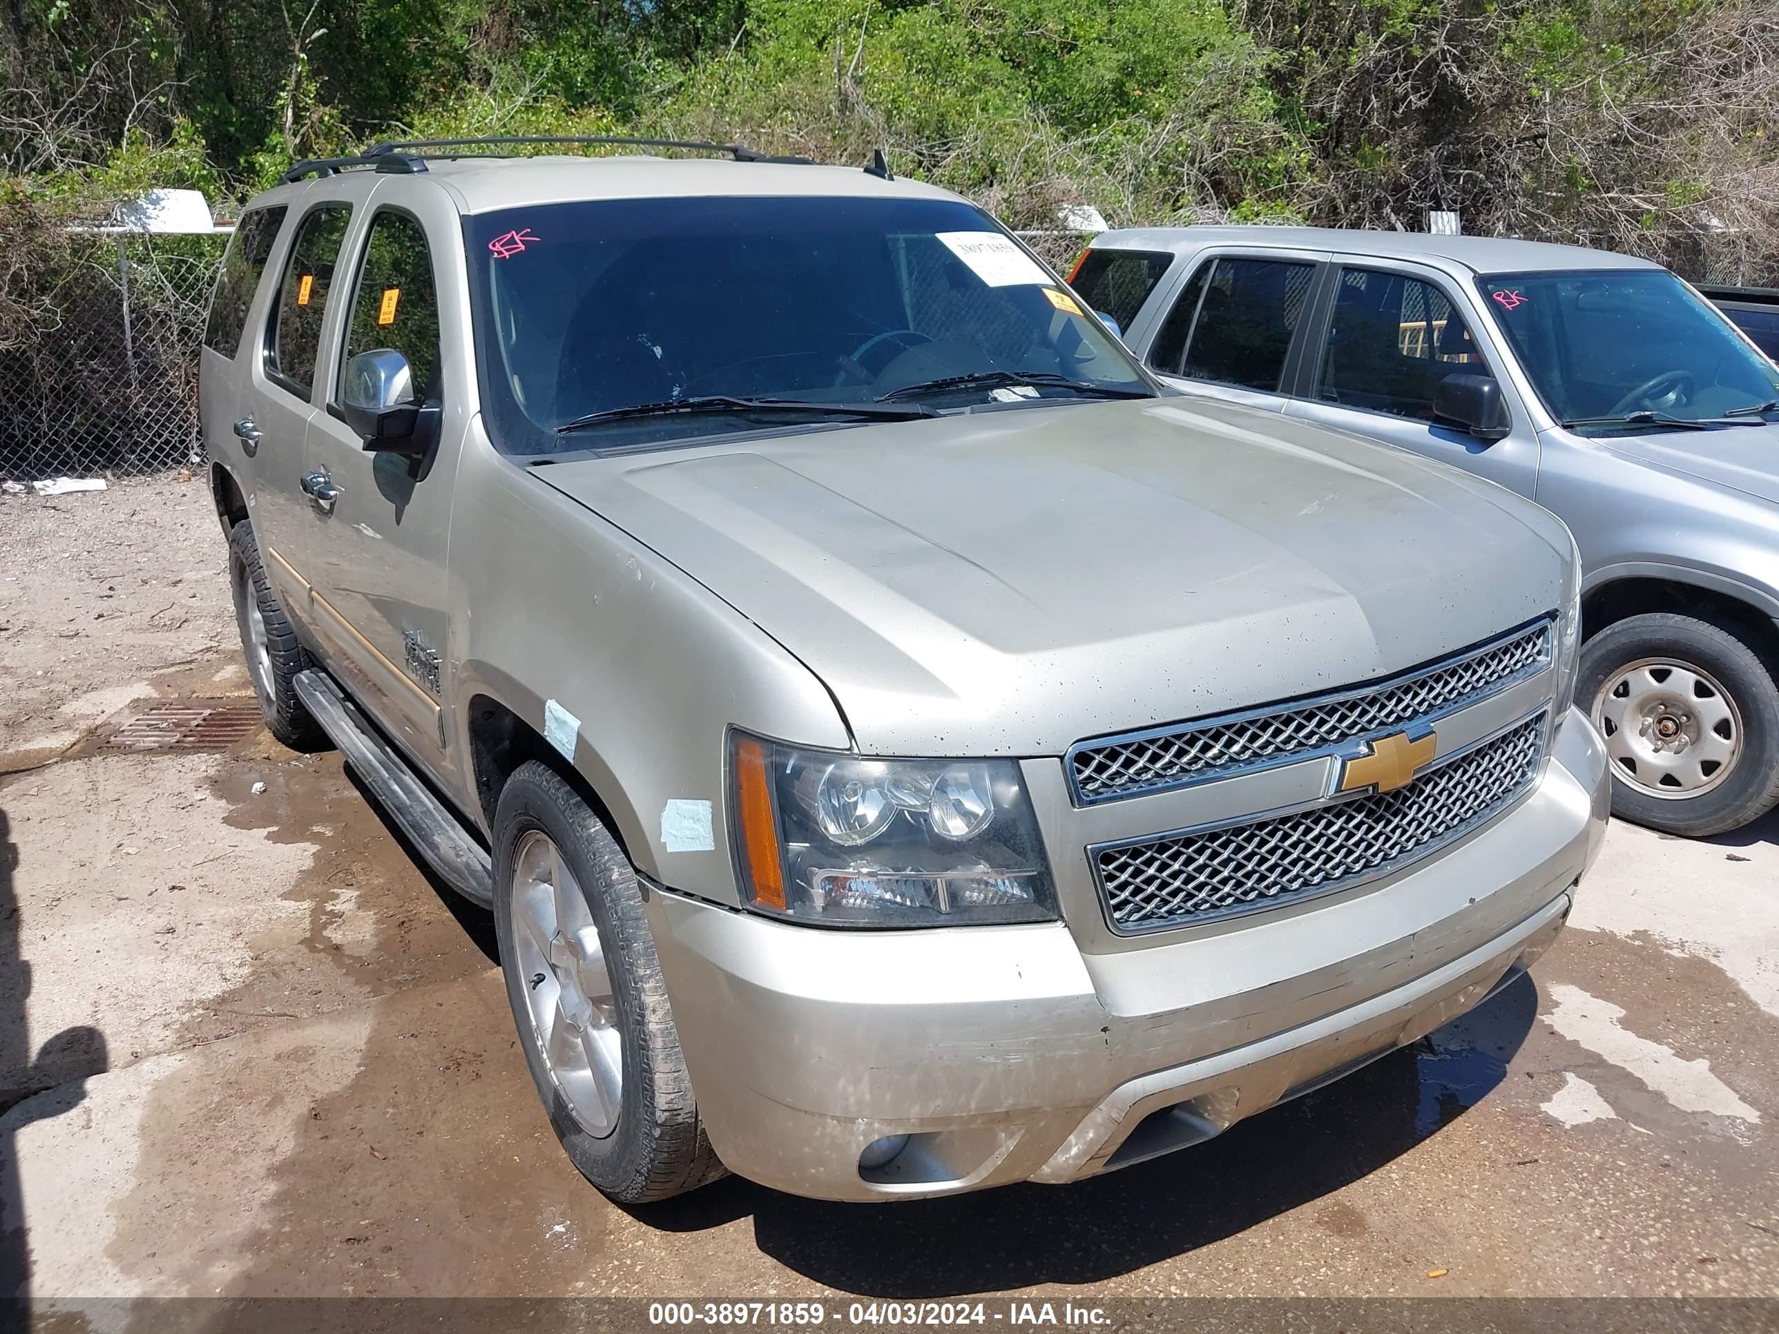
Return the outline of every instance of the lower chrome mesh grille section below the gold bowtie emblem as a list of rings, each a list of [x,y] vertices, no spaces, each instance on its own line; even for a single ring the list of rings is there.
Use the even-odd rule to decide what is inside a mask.
[[[1397,792],[1249,824],[1092,848],[1117,930],[1270,907],[1395,870],[1487,824],[1537,777],[1546,715]]]

